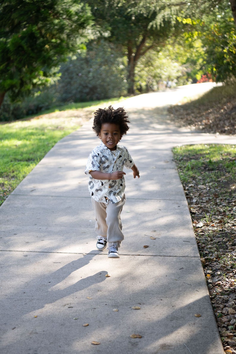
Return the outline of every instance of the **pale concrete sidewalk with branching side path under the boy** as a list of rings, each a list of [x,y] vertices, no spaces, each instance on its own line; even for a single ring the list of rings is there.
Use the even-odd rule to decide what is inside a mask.
[[[119,104],[131,120],[121,143],[140,171],[133,179],[126,170],[120,259],[96,249],[84,173],[99,143],[92,120],[0,207],[2,354],[224,353],[171,148],[236,138],[168,124],[166,104],[184,95],[177,88]]]

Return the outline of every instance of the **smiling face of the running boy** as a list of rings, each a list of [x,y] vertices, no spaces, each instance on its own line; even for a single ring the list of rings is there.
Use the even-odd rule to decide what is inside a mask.
[[[118,124],[104,123],[102,124],[99,139],[106,145],[111,151],[116,149],[116,145],[119,143],[122,135],[120,133],[120,127]]]

